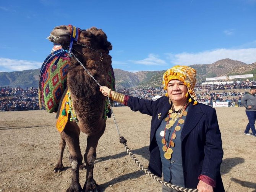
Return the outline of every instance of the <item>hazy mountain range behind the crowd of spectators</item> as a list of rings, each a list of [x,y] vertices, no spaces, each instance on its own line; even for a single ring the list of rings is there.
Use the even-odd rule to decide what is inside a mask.
[[[251,74],[255,79],[256,62],[246,64],[241,61],[223,59],[211,64],[190,65],[197,71],[197,81],[206,81],[207,77],[225,75]],[[131,73],[122,69],[114,69],[116,88],[160,87],[162,86],[163,71],[138,71]],[[38,87],[40,69],[25,71],[0,72],[0,87]]]

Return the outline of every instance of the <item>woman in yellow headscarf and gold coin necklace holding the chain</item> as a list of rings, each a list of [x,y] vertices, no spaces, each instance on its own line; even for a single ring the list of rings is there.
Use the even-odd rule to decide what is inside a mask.
[[[197,103],[196,70],[174,66],[164,73],[165,96],[150,101],[123,95],[108,87],[100,91],[133,111],[152,116],[149,170],[177,186],[199,192],[223,192],[220,176],[222,140],[214,108]],[[162,191],[175,191],[162,186]]]

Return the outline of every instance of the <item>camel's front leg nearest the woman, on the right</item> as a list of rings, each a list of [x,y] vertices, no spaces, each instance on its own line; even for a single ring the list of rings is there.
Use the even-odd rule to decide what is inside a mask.
[[[106,124],[104,122],[104,127],[102,131],[97,135],[91,135],[87,137],[87,147],[84,154],[84,161],[86,163],[86,182],[84,184],[85,192],[100,192],[99,186],[96,184],[96,181],[93,179],[93,168],[94,161],[96,160],[96,148],[98,141],[102,134],[105,131]]]

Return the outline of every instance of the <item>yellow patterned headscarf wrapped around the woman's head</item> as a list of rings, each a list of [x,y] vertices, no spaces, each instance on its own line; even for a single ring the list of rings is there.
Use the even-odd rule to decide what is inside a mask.
[[[190,94],[191,98],[194,100],[194,105],[197,104],[196,101],[196,93],[194,92],[194,86],[196,85],[196,70],[189,67],[189,66],[181,66],[181,65],[176,65],[170,69],[168,69],[163,76],[163,82],[164,84],[164,89],[167,90],[167,85],[169,81],[172,79],[178,79],[186,85],[188,88],[188,93],[186,94],[186,97],[188,97],[188,94]],[[165,94],[168,96],[168,94]],[[188,100],[191,102],[191,98]]]

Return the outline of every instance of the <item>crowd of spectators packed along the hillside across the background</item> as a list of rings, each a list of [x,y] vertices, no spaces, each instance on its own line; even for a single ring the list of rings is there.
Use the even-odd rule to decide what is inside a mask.
[[[255,81],[239,81],[232,84],[201,85],[196,84],[195,90],[198,102],[204,102],[212,106],[213,102],[229,102],[229,106],[241,106],[241,98],[245,95],[245,90],[256,85]],[[244,89],[243,92],[238,89]],[[146,98],[151,100],[156,95],[165,95],[163,87],[150,88],[129,88],[116,89],[123,94]],[[114,102],[113,106],[123,106]],[[1,111],[22,111],[39,110],[38,89],[31,87],[22,89],[21,87],[0,87],[0,110]]]

